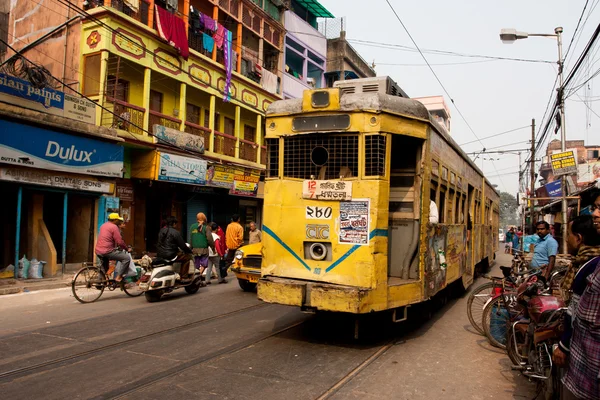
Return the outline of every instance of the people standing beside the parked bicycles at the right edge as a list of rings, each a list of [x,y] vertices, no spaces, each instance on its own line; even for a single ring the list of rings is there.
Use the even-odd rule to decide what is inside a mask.
[[[554,363],[565,368],[565,399],[600,399],[600,191],[592,195],[591,215],[568,225],[567,247],[574,256],[561,284],[568,306],[565,330],[554,350]],[[558,243],[546,222],[536,225],[539,240],[532,267],[554,267]]]

